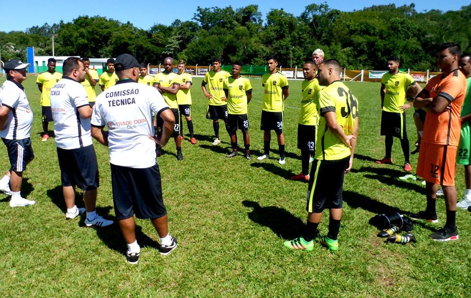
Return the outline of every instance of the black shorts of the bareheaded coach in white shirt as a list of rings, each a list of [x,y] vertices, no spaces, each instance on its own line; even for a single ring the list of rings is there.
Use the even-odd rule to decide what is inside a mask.
[[[96,190],[100,185],[97,156],[93,145],[77,149],[57,148],[62,186]]]

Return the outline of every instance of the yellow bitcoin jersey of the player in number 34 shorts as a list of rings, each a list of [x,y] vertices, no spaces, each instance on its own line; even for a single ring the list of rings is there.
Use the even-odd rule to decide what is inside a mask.
[[[283,89],[288,88],[288,80],[285,75],[277,71],[273,75],[266,73],[262,76],[263,94],[262,110],[268,112],[282,112],[285,109]]]

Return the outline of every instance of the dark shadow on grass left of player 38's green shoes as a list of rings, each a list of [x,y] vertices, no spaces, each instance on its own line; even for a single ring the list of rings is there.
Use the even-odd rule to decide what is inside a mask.
[[[275,206],[262,207],[258,202],[242,201],[242,205],[253,210],[248,217],[255,223],[270,228],[276,236],[289,240],[301,236],[304,222],[283,208]]]

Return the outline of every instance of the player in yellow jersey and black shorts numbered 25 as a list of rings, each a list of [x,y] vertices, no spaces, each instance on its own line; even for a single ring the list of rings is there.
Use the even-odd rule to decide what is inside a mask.
[[[247,105],[252,99],[252,85],[247,78],[241,77],[242,63],[234,62],[232,76],[224,80],[224,93],[227,98],[227,131],[231,138],[232,152],[226,157],[237,156],[237,128],[244,137],[245,158],[250,160],[250,135]]]

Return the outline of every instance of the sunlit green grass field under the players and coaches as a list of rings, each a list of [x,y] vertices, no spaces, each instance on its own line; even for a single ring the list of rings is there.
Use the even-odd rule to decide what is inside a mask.
[[[184,160],[177,162],[169,141],[158,158],[169,228],[179,246],[168,257],[157,250],[158,236],[150,221],[137,220],[141,258],[126,263],[126,244],[119,227],[86,228],[84,217],[65,220],[55,142],[40,141],[41,111],[35,77],[24,82],[35,119],[35,159],[24,174],[22,194],[36,204],[10,208],[0,196],[0,293],[4,297],[470,297],[470,213],[457,211],[460,239],[436,243],[428,235],[445,223],[439,198],[439,224],[418,222],[416,244],[385,244],[368,224],[377,213],[410,213],[425,206],[424,187],[403,182],[403,157],[394,140],[394,165],[378,165],[384,157],[379,135],[379,83],[347,83],[358,98],[360,131],[351,173],[344,183],[340,250],[331,253],[289,251],[284,240],[300,235],[306,218],[307,184],[290,181],[301,170],[296,148],[301,81],[290,81],[285,109],[287,163],[277,162],[272,135],[271,159],[247,161],[225,157],[230,141],[221,126],[222,143],[212,146],[207,100],[194,79],[192,116],[198,143],[183,141]],[[3,82],[0,79],[0,82]],[[251,149],[262,152],[259,129],[262,107],[260,79],[251,79],[249,105]],[[99,89],[99,88],[97,88]],[[415,140],[412,110],[408,111],[411,150]],[[51,126],[52,129],[52,126]],[[187,127],[184,125],[184,131]],[[238,133],[239,145],[242,145]],[[100,167],[98,212],[114,218],[108,149],[95,142]],[[9,167],[1,145],[0,168]],[[417,163],[417,155],[412,156]],[[464,193],[458,167],[458,196]],[[78,206],[83,201],[78,193]],[[327,233],[328,213],[319,228]]]

